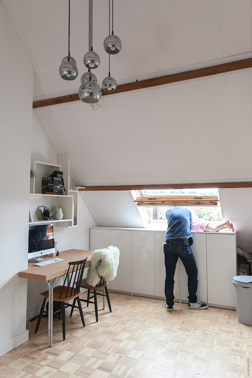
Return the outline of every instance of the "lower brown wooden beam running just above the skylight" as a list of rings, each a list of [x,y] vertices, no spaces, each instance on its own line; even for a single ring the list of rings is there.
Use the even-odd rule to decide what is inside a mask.
[[[251,188],[252,181],[236,183],[200,183],[200,184],[160,184],[160,185],[110,185],[110,186],[85,186],[79,187],[79,191],[128,191],[128,190],[178,190],[178,189],[227,189],[227,188]]]

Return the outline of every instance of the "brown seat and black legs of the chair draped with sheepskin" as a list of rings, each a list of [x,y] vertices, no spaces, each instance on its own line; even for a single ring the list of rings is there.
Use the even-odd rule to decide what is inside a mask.
[[[109,296],[108,296],[107,284],[108,284],[108,282],[105,281],[104,277],[100,277],[100,282],[97,283],[96,286],[90,286],[87,283],[87,279],[86,278],[83,278],[83,280],[80,283],[80,287],[82,287],[83,289],[87,289],[88,290],[87,299],[81,299],[80,298],[80,301],[81,302],[86,302],[87,303],[87,307],[88,307],[88,305],[90,303],[94,304],[94,311],[95,311],[96,322],[98,322],[97,295],[101,295],[101,296],[107,298],[108,308],[109,308],[110,312],[112,311],[111,310],[111,305],[110,305],[110,299],[109,299]],[[103,290],[103,293],[97,293],[96,290]],[[105,293],[104,293],[104,290],[105,290]],[[93,295],[90,296],[90,293],[92,293]],[[90,301],[90,299],[93,299],[93,298],[94,298],[94,301]],[[75,301],[76,301],[76,299],[74,299],[73,304],[75,304]],[[105,309],[105,306],[104,306],[104,301],[103,301],[103,310],[104,309]],[[71,309],[70,317],[73,314],[73,310],[74,310],[74,307],[72,307],[72,309]]]

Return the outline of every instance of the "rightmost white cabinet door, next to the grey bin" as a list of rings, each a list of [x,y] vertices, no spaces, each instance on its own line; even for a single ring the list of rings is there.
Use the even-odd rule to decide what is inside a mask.
[[[236,234],[207,233],[209,304],[235,307],[233,277],[237,275]]]

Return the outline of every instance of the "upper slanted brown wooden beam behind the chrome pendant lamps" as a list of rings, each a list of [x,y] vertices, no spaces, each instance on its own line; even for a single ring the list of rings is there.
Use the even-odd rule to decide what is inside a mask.
[[[244,68],[252,67],[252,58],[237,60],[236,62],[224,63],[215,65],[212,67],[199,68],[198,70],[186,71],[176,73],[172,75],[166,75],[161,77],[155,77],[153,79],[147,79],[142,81],[135,81],[128,84],[117,85],[116,90],[113,92],[106,92],[102,89],[102,96],[108,96],[114,93],[122,93],[127,91],[133,91],[137,89],[155,87],[156,85],[170,84],[178,81],[185,81],[190,79],[196,79],[199,77],[211,76],[220,73],[242,70]],[[33,108],[40,108],[43,106],[64,104],[65,102],[80,101],[78,93],[68,96],[60,96],[51,98],[48,100],[34,101]]]

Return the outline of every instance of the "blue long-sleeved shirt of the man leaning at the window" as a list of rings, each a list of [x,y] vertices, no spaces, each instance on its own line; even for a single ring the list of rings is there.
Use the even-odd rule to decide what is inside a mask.
[[[165,212],[167,218],[167,232],[165,240],[192,237],[192,213],[187,208],[172,207]]]

